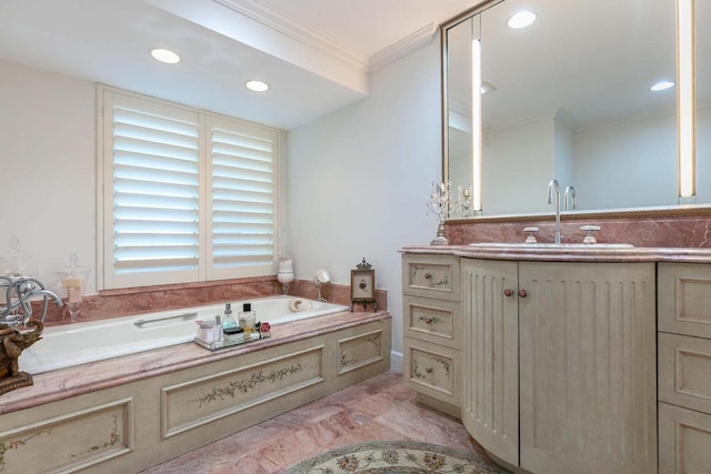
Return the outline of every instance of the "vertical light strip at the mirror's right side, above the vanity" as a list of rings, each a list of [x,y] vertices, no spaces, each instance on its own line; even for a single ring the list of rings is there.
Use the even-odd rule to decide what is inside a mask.
[[[679,202],[693,203],[695,186],[693,1],[677,0],[677,127]]]

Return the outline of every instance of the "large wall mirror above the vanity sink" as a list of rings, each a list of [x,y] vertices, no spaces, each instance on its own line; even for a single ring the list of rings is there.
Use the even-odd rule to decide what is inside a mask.
[[[523,10],[533,23],[510,28]],[[481,177],[481,210],[452,218],[550,213],[553,178],[577,211],[711,203],[709,21],[697,0],[697,186],[681,200],[677,0],[489,1],[442,26],[452,199]]]

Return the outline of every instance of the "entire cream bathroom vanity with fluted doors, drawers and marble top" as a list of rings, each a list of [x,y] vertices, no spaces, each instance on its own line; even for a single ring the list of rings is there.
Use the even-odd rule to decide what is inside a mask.
[[[508,467],[711,472],[710,263],[698,249],[405,248],[407,383]]]

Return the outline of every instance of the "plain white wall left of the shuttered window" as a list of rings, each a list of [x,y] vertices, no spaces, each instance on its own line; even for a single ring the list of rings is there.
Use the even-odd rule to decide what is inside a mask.
[[[0,78],[0,253],[17,235],[47,285],[72,252],[96,271],[94,84],[4,61]]]

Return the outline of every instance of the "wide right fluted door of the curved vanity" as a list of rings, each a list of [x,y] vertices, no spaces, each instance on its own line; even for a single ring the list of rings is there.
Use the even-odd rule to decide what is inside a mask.
[[[657,472],[653,263],[520,262],[520,466]]]

